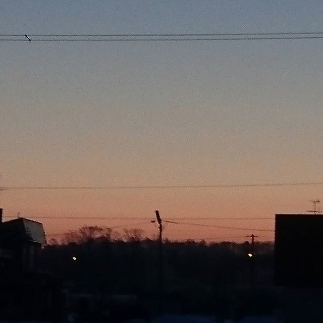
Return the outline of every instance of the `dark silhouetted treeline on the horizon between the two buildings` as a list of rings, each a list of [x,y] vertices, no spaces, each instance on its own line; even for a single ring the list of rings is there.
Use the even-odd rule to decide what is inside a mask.
[[[275,307],[273,245],[249,242],[205,243],[164,241],[166,303],[184,312],[228,314]],[[115,232],[84,227],[51,240],[42,265],[75,291],[97,295],[158,294],[158,243],[140,229]]]

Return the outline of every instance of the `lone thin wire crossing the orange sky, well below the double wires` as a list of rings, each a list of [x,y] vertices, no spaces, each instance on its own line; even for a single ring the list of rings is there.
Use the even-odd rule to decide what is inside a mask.
[[[203,185],[147,185],[147,186],[9,186],[2,190],[108,190],[108,189],[182,189],[182,188],[239,188],[239,187],[277,187],[277,186],[312,186],[323,182],[286,182],[255,184],[203,184]]]

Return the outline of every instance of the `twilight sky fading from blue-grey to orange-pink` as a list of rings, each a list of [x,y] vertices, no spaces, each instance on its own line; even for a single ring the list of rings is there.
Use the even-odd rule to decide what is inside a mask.
[[[323,31],[320,1],[0,1],[1,34]],[[160,186],[319,182],[323,40],[0,42],[0,186]],[[127,218],[172,239],[256,233],[302,212],[321,186],[13,190],[5,216],[48,234]],[[71,220],[106,217],[109,220]],[[6,218],[5,218],[6,219]],[[9,219],[9,218],[8,218]],[[7,219],[7,220],[8,220]],[[184,220],[183,220],[184,222]],[[156,228],[139,226],[147,234]]]

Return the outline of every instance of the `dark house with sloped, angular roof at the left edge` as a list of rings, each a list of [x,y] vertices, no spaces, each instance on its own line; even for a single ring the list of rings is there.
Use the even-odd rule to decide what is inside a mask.
[[[41,270],[43,225],[18,218],[2,222],[0,208],[0,319],[59,319],[62,286]]]

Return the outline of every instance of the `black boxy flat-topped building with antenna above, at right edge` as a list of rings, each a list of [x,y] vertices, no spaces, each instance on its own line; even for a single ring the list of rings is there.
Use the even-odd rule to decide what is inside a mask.
[[[323,287],[322,250],[322,215],[276,214],[276,285]]]

